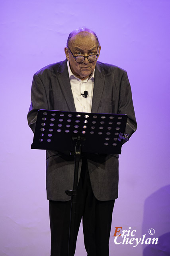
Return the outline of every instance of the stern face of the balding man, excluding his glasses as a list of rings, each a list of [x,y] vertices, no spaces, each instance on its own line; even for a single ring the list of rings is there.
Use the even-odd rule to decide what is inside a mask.
[[[89,56],[92,54],[100,54],[101,46],[99,46],[98,52],[95,36],[89,32],[80,32],[72,36],[69,42],[69,48],[74,56]],[[88,59],[85,58],[84,62],[77,63],[70,50],[67,47],[65,47],[64,50],[66,58],[70,62],[72,73],[81,80],[88,78],[94,71],[97,60],[89,62]]]

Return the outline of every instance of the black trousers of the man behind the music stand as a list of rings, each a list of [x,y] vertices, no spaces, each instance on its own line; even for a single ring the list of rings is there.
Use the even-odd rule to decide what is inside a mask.
[[[108,256],[112,212],[115,200],[99,201],[90,184],[87,160],[82,158],[76,204],[75,242],[82,219],[84,245],[88,256]],[[68,255],[70,201],[49,201],[51,256]]]

